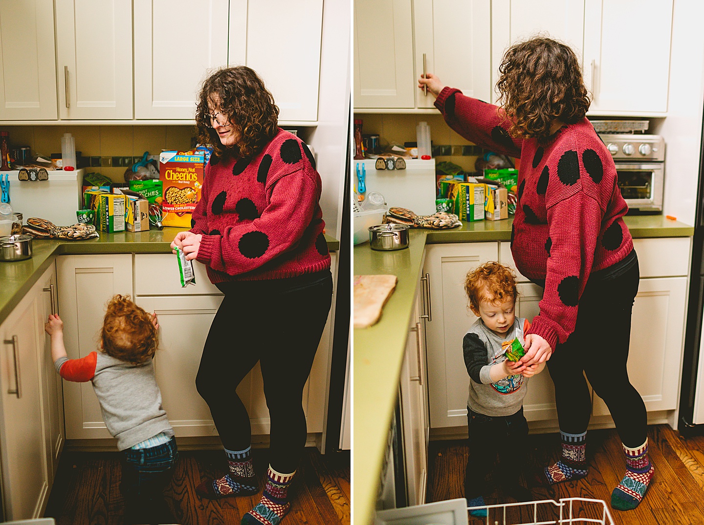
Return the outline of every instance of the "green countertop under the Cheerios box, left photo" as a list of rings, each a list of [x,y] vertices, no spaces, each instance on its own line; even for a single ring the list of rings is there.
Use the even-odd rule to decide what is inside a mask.
[[[65,254],[166,254],[171,253],[170,244],[177,233],[184,228],[164,228],[137,233],[103,233],[90,240],[49,240],[32,241],[32,258],[25,261],[0,262],[0,324],[18,305],[20,299],[42,276],[58,255]],[[331,252],[340,247],[338,240],[325,235]]]

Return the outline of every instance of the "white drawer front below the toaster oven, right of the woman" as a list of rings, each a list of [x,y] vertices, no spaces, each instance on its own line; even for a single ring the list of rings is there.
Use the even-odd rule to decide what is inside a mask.
[[[686,276],[689,273],[689,245],[689,237],[634,239],[641,278]]]

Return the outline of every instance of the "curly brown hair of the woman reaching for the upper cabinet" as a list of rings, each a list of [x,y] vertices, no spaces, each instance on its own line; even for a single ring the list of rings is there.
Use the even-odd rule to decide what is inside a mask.
[[[514,44],[498,71],[496,89],[512,136],[547,138],[555,119],[574,124],[589,109],[582,68],[570,46],[546,37]]]

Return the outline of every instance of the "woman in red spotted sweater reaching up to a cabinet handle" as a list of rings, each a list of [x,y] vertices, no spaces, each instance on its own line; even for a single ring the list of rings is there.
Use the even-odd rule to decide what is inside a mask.
[[[586,372],[623,443],[626,473],[611,505],[634,509],[653,465],[646,408],[626,369],[639,266],[616,168],[585,117],[589,95],[570,47],[543,37],[515,44],[499,72],[501,107],[445,87],[433,74],[418,82],[436,96],[452,129],[521,160],[511,250],[518,270],[545,289],[521,363],[550,360],[562,437],[562,457],[545,469],[548,481],[587,475]]]

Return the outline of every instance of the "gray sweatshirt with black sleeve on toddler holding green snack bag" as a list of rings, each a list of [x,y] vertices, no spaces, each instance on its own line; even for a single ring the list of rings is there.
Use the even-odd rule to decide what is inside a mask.
[[[520,410],[526,395],[528,377],[509,375],[492,382],[489,369],[494,363],[502,363],[501,343],[518,337],[524,344],[523,332],[527,328],[523,318],[516,318],[513,326],[501,337],[486,328],[481,318],[472,325],[463,339],[465,365],[470,375],[470,396],[467,406],[474,412],[489,415],[512,415]],[[496,358],[496,356],[500,356]],[[495,360],[496,358],[496,360]]]

